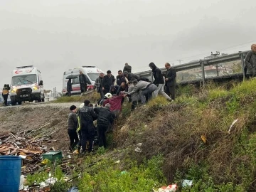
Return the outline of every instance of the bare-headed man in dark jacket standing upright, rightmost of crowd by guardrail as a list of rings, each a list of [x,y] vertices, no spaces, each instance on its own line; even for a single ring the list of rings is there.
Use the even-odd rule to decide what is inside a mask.
[[[165,64],[166,71],[166,94],[171,95],[171,99],[175,100],[175,86],[176,86],[176,70],[171,68],[170,63]]]

